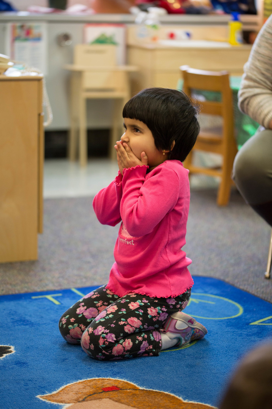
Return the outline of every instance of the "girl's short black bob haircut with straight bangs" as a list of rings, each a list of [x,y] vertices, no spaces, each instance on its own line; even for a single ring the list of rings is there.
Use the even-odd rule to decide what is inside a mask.
[[[183,162],[199,134],[197,113],[197,107],[183,91],[146,88],[126,103],[123,118],[144,122],[153,135],[156,148],[169,150],[169,159]],[[171,151],[173,141],[175,146]]]

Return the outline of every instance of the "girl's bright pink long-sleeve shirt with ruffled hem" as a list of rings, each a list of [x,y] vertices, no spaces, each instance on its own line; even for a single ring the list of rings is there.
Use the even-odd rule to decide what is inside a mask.
[[[98,220],[122,221],[114,248],[115,263],[106,288],[122,297],[130,292],[177,297],[192,287],[190,258],[182,251],[190,203],[188,170],[166,160],[124,169],[93,200]]]

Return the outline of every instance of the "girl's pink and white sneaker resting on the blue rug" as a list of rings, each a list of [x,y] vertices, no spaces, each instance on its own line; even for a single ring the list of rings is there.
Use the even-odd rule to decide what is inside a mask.
[[[165,333],[170,339],[179,338],[180,341],[177,346],[186,346],[195,339],[203,338],[208,331],[193,317],[178,311],[168,317],[161,328],[161,332]]]

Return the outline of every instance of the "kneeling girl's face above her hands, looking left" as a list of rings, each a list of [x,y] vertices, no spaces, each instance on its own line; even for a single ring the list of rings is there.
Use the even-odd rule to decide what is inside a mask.
[[[145,152],[150,170],[167,159],[167,153],[163,155],[162,151],[156,148],[153,135],[144,122],[124,118],[124,128],[125,132],[121,137],[121,141],[126,142],[139,160],[141,160],[141,153]]]

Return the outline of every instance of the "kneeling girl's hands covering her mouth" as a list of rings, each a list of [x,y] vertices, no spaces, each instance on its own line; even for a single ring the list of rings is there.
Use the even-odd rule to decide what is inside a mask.
[[[117,163],[121,175],[123,175],[124,169],[132,168],[137,165],[147,166],[148,158],[145,152],[141,153],[141,160],[139,160],[125,142],[117,141],[114,147],[117,152]]]

